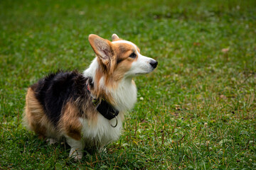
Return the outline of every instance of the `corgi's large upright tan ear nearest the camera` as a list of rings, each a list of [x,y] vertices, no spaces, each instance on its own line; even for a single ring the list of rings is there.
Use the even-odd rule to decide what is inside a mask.
[[[95,34],[90,34],[88,39],[97,57],[99,57],[104,64],[110,64],[111,58],[114,55],[111,42]]]

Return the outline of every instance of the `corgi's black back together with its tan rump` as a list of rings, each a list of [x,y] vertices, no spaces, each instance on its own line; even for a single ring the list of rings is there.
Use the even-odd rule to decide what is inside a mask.
[[[24,119],[28,127],[40,137],[60,137],[60,128],[63,128],[60,127],[63,124],[60,120],[70,103],[75,103],[78,97],[90,103],[90,100],[86,100],[90,99],[85,89],[86,80],[75,71],[57,72],[33,84],[26,95]],[[81,117],[82,113],[77,107],[76,104],[73,106],[73,109],[78,110],[75,115]],[[78,134],[79,131],[73,129],[73,133]]]

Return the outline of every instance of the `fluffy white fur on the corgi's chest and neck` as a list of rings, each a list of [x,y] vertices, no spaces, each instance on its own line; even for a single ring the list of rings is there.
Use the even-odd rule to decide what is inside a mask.
[[[96,69],[98,68],[97,60],[92,61],[92,64],[85,70],[85,77],[95,78]],[[102,77],[103,78],[103,77]],[[104,82],[104,81],[102,81]],[[100,84],[105,88],[104,84]],[[97,123],[93,125],[86,119],[80,118],[82,123],[82,137],[87,145],[94,145],[95,142],[100,144],[100,147],[107,145],[108,143],[118,140],[122,130],[122,120],[124,112],[129,111],[134,107],[134,103],[137,101],[137,88],[132,78],[122,79],[119,82],[117,89],[105,89],[114,98],[115,107],[119,111],[117,115],[117,127],[112,128],[115,124],[115,119],[107,120],[100,113],[98,113]]]

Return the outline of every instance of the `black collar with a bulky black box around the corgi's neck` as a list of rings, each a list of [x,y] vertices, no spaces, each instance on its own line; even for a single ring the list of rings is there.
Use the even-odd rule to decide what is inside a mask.
[[[93,87],[92,78],[87,79],[86,83],[87,91],[90,92],[90,87]],[[110,103],[105,101],[104,98],[101,100],[99,98],[92,98],[93,105],[97,108],[97,111],[100,112],[106,119],[112,120],[112,118],[116,118],[119,114],[119,111],[114,108]]]

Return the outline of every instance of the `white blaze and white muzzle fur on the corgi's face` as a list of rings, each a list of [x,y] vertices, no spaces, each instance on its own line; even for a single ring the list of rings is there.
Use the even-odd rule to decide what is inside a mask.
[[[132,67],[126,73],[127,76],[134,76],[136,74],[146,74],[154,70],[154,67],[151,66],[150,62],[156,61],[152,58],[141,55],[138,51],[137,46],[134,45],[134,43],[129,42],[127,40],[117,40],[112,43],[127,43],[129,45],[132,45],[134,47],[136,54],[138,55],[137,60],[134,60],[134,62],[132,62]]]

